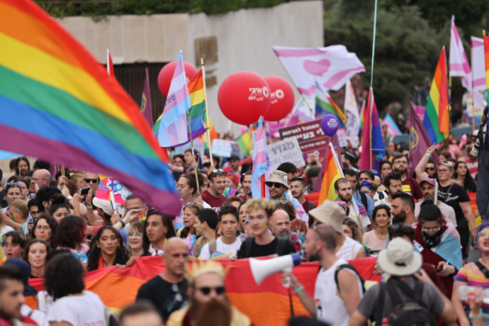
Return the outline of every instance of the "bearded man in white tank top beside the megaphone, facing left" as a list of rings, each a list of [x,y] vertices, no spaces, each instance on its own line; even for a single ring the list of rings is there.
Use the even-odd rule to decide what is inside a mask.
[[[344,215],[341,207],[331,201],[327,202],[333,210],[330,213]],[[293,273],[282,273],[282,282],[286,283],[290,277],[291,288],[310,315],[329,325],[346,326],[361,300],[363,291],[359,276],[352,269],[342,268],[342,265],[348,263],[335,254],[337,232],[333,227],[317,225],[308,230],[305,239],[303,246],[306,256],[310,261],[318,260],[320,263],[314,298],[308,295]]]

